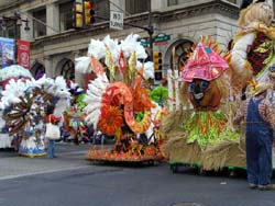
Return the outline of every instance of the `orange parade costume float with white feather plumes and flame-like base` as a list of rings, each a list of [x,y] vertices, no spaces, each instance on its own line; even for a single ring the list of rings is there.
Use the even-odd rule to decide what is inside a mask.
[[[148,95],[153,64],[138,60],[147,57],[138,37],[131,34],[120,43],[110,36],[91,39],[88,57],[76,59],[76,70],[97,75],[88,84],[85,99],[86,123],[117,138],[110,150],[103,146],[90,148],[87,153],[90,161],[154,163],[162,159],[158,139],[141,138],[153,124],[152,111],[157,104]]]

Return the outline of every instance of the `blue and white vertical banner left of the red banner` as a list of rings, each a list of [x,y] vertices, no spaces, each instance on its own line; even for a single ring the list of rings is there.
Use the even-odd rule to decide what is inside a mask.
[[[14,64],[14,39],[0,37],[0,57],[2,68]]]

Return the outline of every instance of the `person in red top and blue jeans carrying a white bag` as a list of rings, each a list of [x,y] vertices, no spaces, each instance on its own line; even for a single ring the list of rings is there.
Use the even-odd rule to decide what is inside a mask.
[[[61,117],[54,116],[53,113],[54,113],[54,106],[48,105],[46,108],[45,122],[56,125],[61,121]],[[48,139],[47,158],[50,158],[50,159],[56,158],[56,156],[55,156],[55,140],[53,140],[53,139]]]

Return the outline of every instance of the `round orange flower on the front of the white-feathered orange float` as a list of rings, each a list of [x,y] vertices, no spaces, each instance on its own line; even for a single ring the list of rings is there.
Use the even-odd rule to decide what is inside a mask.
[[[98,128],[107,135],[114,135],[122,126],[123,118],[119,107],[105,105],[101,107],[101,115]]]

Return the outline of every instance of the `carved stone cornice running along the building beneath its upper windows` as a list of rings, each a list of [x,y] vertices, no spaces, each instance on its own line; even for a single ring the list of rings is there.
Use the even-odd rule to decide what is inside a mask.
[[[170,11],[163,11],[163,12],[152,12],[153,23],[158,22],[169,22],[169,21],[178,21],[187,18],[205,15],[209,13],[218,13],[226,15],[230,19],[237,20],[239,16],[239,8],[235,4],[230,2],[226,2],[223,0],[212,0],[206,3],[191,5],[187,8],[179,8]],[[147,12],[132,15],[125,18],[125,23],[138,24],[141,26],[147,26]],[[129,26],[125,26],[129,27]],[[110,33],[109,22],[101,22],[97,23],[89,28],[84,30],[70,30],[64,33],[41,37],[32,42],[32,48],[40,48],[41,46],[45,45],[53,45],[61,42],[69,42],[72,39],[77,39],[79,37],[89,37],[89,36],[98,36],[101,34]]]

